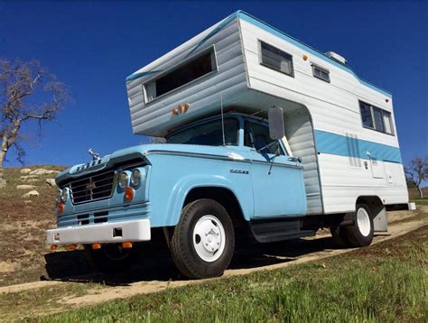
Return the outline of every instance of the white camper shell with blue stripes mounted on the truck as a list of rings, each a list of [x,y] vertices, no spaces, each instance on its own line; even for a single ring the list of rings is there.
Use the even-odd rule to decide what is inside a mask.
[[[187,74],[186,74],[187,73]],[[238,11],[126,78],[135,134],[165,136],[221,112],[284,110],[283,143],[302,160],[307,215],[358,198],[408,202],[392,95],[322,53]]]

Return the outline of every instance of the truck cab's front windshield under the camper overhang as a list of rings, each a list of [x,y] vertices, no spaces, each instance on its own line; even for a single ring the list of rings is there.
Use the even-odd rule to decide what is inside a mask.
[[[224,119],[225,144],[238,144],[239,122],[236,118]],[[201,144],[207,146],[222,146],[223,134],[221,119],[209,121],[200,125],[194,125],[166,138],[167,143]]]

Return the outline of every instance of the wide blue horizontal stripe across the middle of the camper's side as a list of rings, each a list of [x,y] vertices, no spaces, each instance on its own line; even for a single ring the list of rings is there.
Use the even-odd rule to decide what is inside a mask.
[[[349,141],[355,143],[349,144]],[[321,153],[368,160],[369,152],[371,158],[376,158],[378,161],[402,163],[400,149],[383,143],[368,142],[321,130],[315,130],[315,143],[317,151]]]

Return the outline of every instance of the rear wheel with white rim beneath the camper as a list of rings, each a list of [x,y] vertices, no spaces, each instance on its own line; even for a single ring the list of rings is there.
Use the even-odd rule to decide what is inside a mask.
[[[367,204],[358,204],[352,216],[354,225],[345,226],[344,230],[353,247],[367,246],[373,241],[374,225],[370,208]]]

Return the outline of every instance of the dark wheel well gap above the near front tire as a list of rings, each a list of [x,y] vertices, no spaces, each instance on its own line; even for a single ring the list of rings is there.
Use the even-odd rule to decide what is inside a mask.
[[[191,189],[184,200],[183,207],[200,198],[213,199],[226,208],[229,217],[232,219],[233,226],[237,227],[245,224],[242,208],[237,201],[237,197],[231,190],[218,187]]]

